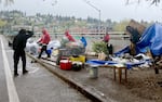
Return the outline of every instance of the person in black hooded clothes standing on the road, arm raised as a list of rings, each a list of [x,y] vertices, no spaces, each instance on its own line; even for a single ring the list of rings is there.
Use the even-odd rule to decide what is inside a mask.
[[[28,73],[28,71],[26,69],[25,48],[26,48],[27,39],[31,37],[32,35],[33,35],[32,31],[21,29],[18,34],[14,37],[14,40],[13,40],[14,76],[18,76],[17,64],[18,64],[19,58],[22,58],[22,62],[23,62],[23,74]]]

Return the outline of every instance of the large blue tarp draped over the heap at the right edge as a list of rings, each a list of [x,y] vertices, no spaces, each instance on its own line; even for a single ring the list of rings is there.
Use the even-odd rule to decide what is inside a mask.
[[[147,49],[151,51],[153,55],[162,54],[162,25],[153,24],[149,26],[141,35],[139,41],[136,43],[136,52],[145,53]],[[124,49],[116,52],[114,54],[122,54],[129,52],[130,48],[125,47]]]

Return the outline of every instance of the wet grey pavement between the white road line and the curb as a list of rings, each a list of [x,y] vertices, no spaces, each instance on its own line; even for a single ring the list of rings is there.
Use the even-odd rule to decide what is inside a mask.
[[[29,74],[14,78],[21,102],[91,102],[42,66],[27,65]]]

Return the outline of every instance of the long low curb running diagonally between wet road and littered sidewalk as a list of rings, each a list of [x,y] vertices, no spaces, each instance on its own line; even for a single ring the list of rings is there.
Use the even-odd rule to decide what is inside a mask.
[[[114,101],[108,99],[107,97],[105,97],[104,94],[102,94],[102,93],[99,94],[98,91],[94,91],[94,90],[91,90],[90,88],[85,88],[84,86],[82,86],[81,84],[75,81],[73,79],[68,78],[68,77],[57,73],[54,68],[49,66],[49,65],[52,65],[52,64],[44,63],[43,61],[36,59],[35,56],[32,56],[29,53],[26,53],[26,54],[29,58],[31,58],[32,60],[35,60],[36,62],[38,62],[39,64],[41,64],[42,66],[44,66],[46,69],[52,72],[58,78],[63,79],[69,86],[71,86],[72,88],[80,91],[83,95],[85,95],[87,99],[92,100],[93,102],[114,102]],[[52,65],[52,66],[59,67],[58,65]]]

